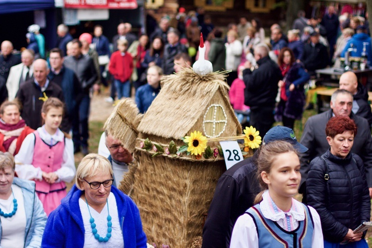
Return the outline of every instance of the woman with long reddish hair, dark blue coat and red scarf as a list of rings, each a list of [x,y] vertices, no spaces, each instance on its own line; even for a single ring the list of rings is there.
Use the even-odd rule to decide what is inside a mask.
[[[283,80],[279,80],[280,102],[275,111],[275,120],[293,129],[295,120],[301,120],[305,105],[304,84],[310,78],[304,65],[296,62],[293,51],[287,47],[280,51],[278,63]]]

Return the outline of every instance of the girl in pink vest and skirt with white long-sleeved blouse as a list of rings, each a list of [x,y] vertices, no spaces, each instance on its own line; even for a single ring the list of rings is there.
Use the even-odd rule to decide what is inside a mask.
[[[72,140],[59,129],[63,103],[51,97],[41,112],[45,124],[23,141],[15,157],[15,171],[19,178],[36,182],[36,192],[49,215],[66,196],[64,182],[73,180],[76,169]]]

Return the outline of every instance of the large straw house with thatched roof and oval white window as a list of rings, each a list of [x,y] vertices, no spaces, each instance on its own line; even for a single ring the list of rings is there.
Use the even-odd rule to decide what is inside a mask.
[[[177,153],[183,137],[236,136],[242,127],[227,97],[224,76],[197,75],[190,68],[162,78],[162,89],[138,125],[134,190],[148,243],[190,247],[202,226],[217,180],[226,170],[221,156]],[[173,143],[174,142],[174,143]],[[219,143],[208,141],[211,150]]]

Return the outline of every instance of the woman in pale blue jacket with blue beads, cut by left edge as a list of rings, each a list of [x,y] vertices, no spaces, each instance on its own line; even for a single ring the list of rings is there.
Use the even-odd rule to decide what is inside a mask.
[[[35,193],[35,182],[14,178],[15,163],[0,152],[0,247],[41,246],[47,215]]]

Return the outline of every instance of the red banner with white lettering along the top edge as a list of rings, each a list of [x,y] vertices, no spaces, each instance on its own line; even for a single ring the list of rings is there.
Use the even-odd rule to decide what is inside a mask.
[[[135,9],[136,0],[64,0],[65,8]]]

